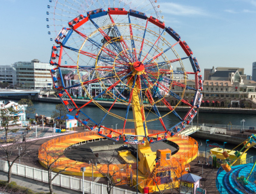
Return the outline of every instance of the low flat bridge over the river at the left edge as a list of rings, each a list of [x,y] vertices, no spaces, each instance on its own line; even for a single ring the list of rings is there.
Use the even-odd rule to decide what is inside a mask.
[[[11,90],[0,89],[1,96],[38,96],[40,90]]]

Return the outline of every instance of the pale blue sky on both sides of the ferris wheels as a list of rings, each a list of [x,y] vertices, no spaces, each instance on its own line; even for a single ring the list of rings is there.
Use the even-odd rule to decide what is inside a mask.
[[[72,0],[70,0],[72,1]],[[48,0],[1,0],[0,65],[34,58],[48,62]],[[194,52],[201,70],[244,67],[256,61],[256,0],[158,0],[165,24]],[[203,71],[202,71],[203,73]]]

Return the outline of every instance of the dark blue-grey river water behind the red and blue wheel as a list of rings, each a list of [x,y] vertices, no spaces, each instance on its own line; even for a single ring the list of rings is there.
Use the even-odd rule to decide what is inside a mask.
[[[0,99],[0,100],[5,100],[7,102],[7,99]],[[12,100],[12,101],[18,101],[18,100]],[[34,107],[36,109],[36,113],[38,115],[45,115],[45,116],[51,116],[53,110],[55,110],[55,103],[42,103],[42,102],[33,102]],[[105,112],[103,112],[100,108],[98,107],[92,107],[92,106],[87,106],[86,108],[83,108],[82,111],[86,113],[87,115],[91,116],[91,118],[95,119],[96,122],[101,121],[101,119],[105,116]],[[126,113],[126,110],[124,109],[113,109],[113,113],[116,115],[122,115]],[[74,112],[70,112],[70,115],[75,115]],[[161,112],[160,112],[161,113]],[[164,112],[162,112],[164,114]],[[30,118],[35,118],[35,115],[28,115]],[[130,118],[132,119],[132,118]],[[234,113],[234,114],[227,114],[227,113],[200,113],[199,109],[199,114],[198,114],[198,123],[211,123],[211,124],[224,124],[227,125],[229,122],[232,123],[232,125],[241,125],[241,120],[244,119],[245,126],[251,126],[255,127],[256,126],[256,115],[250,115],[250,114],[239,114],[239,113]],[[176,124],[177,117],[174,116],[174,114],[165,116],[163,118],[163,121],[166,125],[166,127],[170,128],[174,124]],[[197,123],[197,116],[193,120],[194,124]],[[106,116],[106,118],[103,120],[101,125],[105,125],[106,127],[116,127],[121,128],[123,127],[124,121],[120,120],[114,116]],[[147,127],[148,129],[161,129],[161,123],[159,121],[153,121],[153,122],[147,122]],[[127,122],[126,128],[134,128],[133,122]],[[202,146],[199,147],[200,151],[205,151],[205,140],[204,139],[196,139],[199,144],[202,142]],[[223,146],[222,142],[212,142],[209,141],[208,144],[211,143],[218,143],[220,146]],[[225,148],[227,149],[233,149],[235,146],[232,144],[225,144]],[[207,150],[211,149],[211,147],[207,147]],[[248,152],[248,155],[256,155],[255,154],[255,149],[250,149]]]

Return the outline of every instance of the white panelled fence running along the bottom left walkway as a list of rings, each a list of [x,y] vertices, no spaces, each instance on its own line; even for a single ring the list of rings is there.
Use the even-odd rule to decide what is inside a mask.
[[[0,170],[8,172],[8,164],[6,161],[0,160]],[[36,169],[34,167],[25,166],[22,164],[14,164],[12,166],[12,174],[24,176],[36,181],[41,181],[48,183],[48,172],[42,169]],[[54,176],[55,173],[52,173]],[[68,188],[71,190],[82,191],[83,181],[79,178],[74,178],[67,175],[58,175],[53,184],[56,186]],[[90,194],[107,194],[107,186],[104,184],[99,184],[97,182],[86,181],[85,184],[85,193]],[[124,190],[121,188],[114,187],[112,188],[112,194],[135,194],[136,192]]]

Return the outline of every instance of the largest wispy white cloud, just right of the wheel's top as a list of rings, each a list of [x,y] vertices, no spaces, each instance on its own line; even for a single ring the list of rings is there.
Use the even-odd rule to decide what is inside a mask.
[[[208,15],[199,7],[185,6],[177,3],[159,3],[160,10],[172,15]]]

